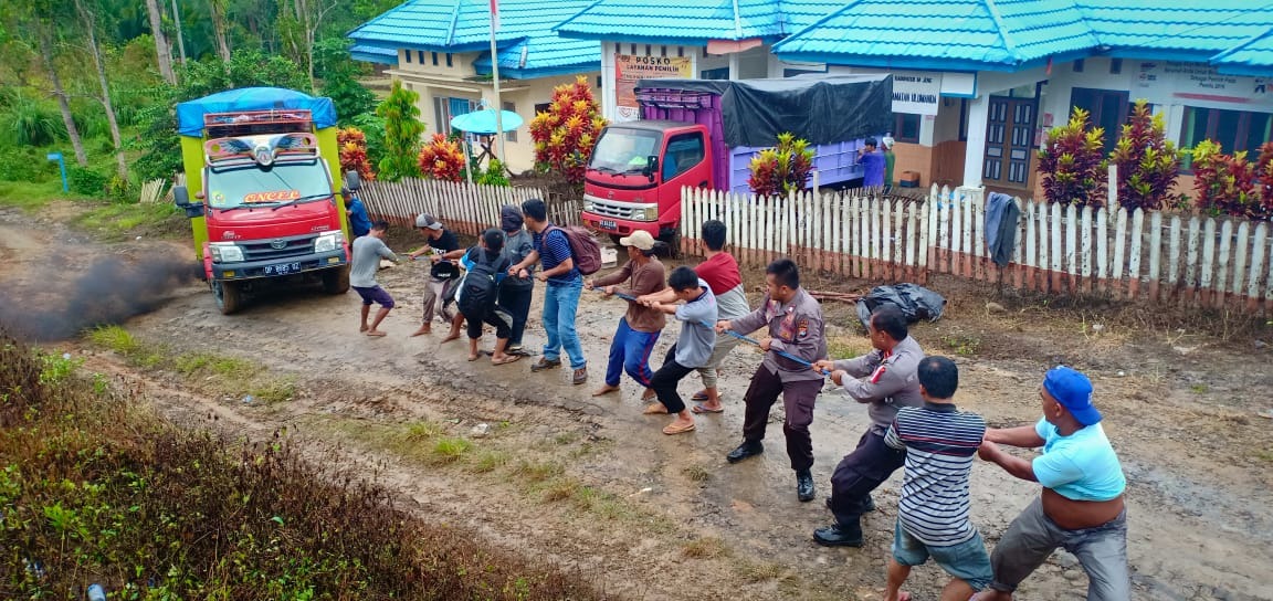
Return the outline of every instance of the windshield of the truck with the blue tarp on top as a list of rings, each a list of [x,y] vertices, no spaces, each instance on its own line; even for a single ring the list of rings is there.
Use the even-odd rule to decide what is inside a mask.
[[[209,169],[207,205],[213,209],[276,206],[300,199],[320,200],[331,195],[322,164],[314,160],[234,166]]]

